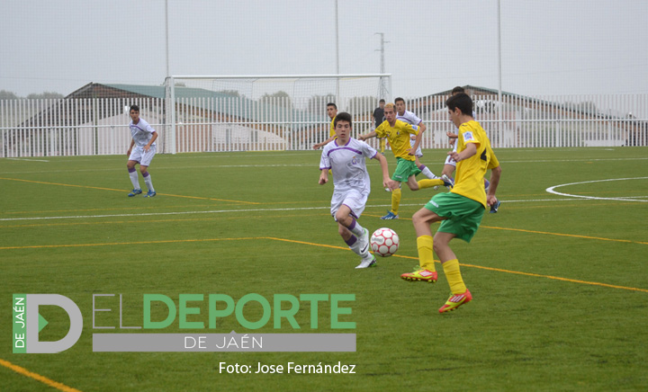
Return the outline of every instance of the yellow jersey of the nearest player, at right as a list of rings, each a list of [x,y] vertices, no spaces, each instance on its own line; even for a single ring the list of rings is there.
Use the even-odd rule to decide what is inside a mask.
[[[457,153],[464,151],[469,143],[477,147],[477,153],[468,159],[457,162],[455,187],[450,192],[460,194],[482,203],[486,207],[486,192],[484,191],[483,177],[488,169],[500,165],[491,148],[491,140],[479,122],[471,120],[464,122],[459,127],[457,138]]]

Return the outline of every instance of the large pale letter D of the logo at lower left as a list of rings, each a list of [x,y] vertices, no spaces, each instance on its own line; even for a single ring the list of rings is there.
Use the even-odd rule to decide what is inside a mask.
[[[83,330],[83,316],[72,299],[59,294],[27,294],[25,297],[25,352],[63,352],[76,343]],[[66,311],[70,317],[70,329],[63,339],[56,342],[39,342],[40,305],[54,305]]]

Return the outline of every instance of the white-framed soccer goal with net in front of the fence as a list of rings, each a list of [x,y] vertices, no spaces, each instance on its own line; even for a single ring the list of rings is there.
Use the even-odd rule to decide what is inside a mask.
[[[392,99],[391,74],[169,76],[165,87],[172,154],[191,142],[190,124],[211,142],[205,151],[304,149],[321,137],[328,102],[365,129],[378,101]]]

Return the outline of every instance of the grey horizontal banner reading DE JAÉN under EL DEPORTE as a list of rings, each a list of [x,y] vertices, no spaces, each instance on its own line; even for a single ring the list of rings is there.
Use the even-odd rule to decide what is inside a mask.
[[[93,352],[356,352],[356,334],[93,334]]]

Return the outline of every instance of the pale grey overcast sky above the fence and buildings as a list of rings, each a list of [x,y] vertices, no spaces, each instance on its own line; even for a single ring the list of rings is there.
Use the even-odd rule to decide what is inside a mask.
[[[172,75],[334,74],[335,0],[167,0]],[[648,93],[648,1],[500,0],[502,89]],[[0,0],[0,90],[160,85],[164,0]],[[393,95],[498,88],[497,0],[338,0],[340,73]]]

